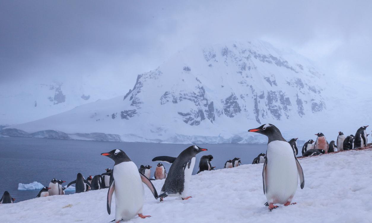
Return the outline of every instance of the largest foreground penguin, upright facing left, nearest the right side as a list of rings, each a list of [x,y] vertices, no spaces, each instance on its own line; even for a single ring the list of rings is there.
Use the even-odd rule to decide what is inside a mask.
[[[263,193],[266,195],[269,210],[278,207],[274,204],[288,206],[296,193],[298,177],[301,189],[305,185],[302,167],[291,145],[285,141],[279,129],[272,124],[264,124],[248,132],[257,132],[266,135],[269,139],[262,171]]]

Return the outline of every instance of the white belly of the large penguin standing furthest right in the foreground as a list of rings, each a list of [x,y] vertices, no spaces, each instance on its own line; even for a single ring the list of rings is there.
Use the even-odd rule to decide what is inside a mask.
[[[291,201],[298,185],[298,170],[288,142],[272,141],[267,145],[266,198],[269,203]]]

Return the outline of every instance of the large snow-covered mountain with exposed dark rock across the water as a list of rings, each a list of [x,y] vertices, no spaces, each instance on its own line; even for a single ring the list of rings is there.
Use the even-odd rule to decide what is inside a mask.
[[[55,130],[51,138],[62,132],[90,140],[254,143],[266,138],[247,129],[275,123],[286,138],[307,141],[316,132],[342,131],[324,123],[335,104],[326,88],[325,75],[310,60],[266,42],[190,47],[138,75],[123,96],[7,127],[3,134],[50,137],[45,130]],[[58,86],[53,91],[49,103],[55,105],[64,96]]]

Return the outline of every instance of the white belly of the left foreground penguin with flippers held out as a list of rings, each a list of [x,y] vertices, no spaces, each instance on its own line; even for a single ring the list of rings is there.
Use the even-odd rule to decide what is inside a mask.
[[[144,188],[137,166],[132,162],[114,165],[115,220],[129,220],[142,214]]]

